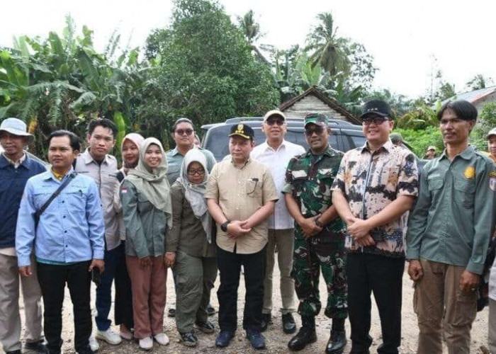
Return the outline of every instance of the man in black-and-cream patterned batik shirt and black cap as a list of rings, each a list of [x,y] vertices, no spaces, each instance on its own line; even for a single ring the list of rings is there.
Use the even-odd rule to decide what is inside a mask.
[[[372,292],[383,334],[378,353],[398,353],[405,231],[417,196],[417,162],[390,140],[394,122],[388,103],[368,101],[361,120],[366,144],[344,154],[332,186],[332,201],[347,226],[351,353],[368,353],[371,346]]]

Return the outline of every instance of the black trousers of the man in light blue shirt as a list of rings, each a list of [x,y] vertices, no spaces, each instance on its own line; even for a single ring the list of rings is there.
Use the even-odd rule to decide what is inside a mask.
[[[67,282],[74,312],[74,347],[86,350],[91,335],[90,261],[71,265],[37,264],[38,282],[43,295],[43,318],[47,346],[52,353],[60,353],[62,346],[62,304]]]

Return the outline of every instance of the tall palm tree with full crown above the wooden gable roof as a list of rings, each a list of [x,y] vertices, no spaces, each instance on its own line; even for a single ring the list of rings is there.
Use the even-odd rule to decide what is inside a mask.
[[[347,76],[351,69],[349,39],[337,35],[332,13],[319,13],[317,19],[320,23],[308,35],[305,47],[305,50],[314,51],[310,56],[312,66],[319,65],[331,76]]]

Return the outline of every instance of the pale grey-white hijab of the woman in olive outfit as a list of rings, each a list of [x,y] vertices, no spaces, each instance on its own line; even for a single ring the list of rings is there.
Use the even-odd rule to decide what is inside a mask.
[[[202,183],[190,183],[188,178],[188,166],[192,162],[198,162],[203,166],[205,170],[205,176],[203,177]],[[184,155],[183,164],[181,165],[181,171],[179,171],[179,178],[176,182],[181,183],[184,187],[184,197],[188,200],[191,205],[191,210],[195,217],[201,220],[203,230],[207,235],[207,241],[209,244],[212,243],[212,218],[208,214],[207,203],[203,195],[205,194],[205,189],[207,187],[208,181],[208,169],[207,169],[207,159],[203,152],[199,149],[191,149],[186,155]]]

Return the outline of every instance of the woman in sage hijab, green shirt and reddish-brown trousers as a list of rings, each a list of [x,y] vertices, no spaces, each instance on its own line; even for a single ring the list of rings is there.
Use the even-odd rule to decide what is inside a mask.
[[[159,140],[140,144],[140,160],[120,186],[127,241],[126,263],[133,289],[135,338],[151,349],[153,338],[166,345],[163,332],[166,300],[165,234],[171,227],[167,161]]]

